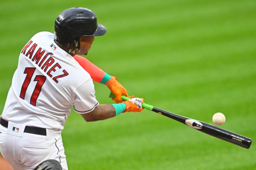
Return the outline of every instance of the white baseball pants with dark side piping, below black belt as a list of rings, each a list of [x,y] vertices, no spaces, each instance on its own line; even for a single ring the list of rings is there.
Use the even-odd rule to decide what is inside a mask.
[[[8,128],[0,125],[0,152],[14,170],[33,170],[47,159],[57,160],[63,170],[68,170],[60,134],[46,139],[43,135],[24,133],[22,126],[19,125],[18,131],[13,130],[12,122],[9,122]]]

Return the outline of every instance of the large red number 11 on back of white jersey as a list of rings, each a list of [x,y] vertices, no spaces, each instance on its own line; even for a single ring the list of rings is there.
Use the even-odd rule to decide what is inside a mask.
[[[36,70],[35,67],[26,67],[24,70],[24,74],[27,74],[27,76],[22,84],[21,91],[20,91],[20,98],[23,100],[25,99],[25,94],[28,89],[28,85],[31,81],[31,78],[32,78],[35,70]],[[37,83],[36,83],[36,87],[32,93],[32,96],[30,98],[30,104],[36,106],[36,100],[41,92],[41,89],[42,89],[42,86],[44,85],[45,80],[46,80],[45,76],[36,75],[34,81],[37,81]]]

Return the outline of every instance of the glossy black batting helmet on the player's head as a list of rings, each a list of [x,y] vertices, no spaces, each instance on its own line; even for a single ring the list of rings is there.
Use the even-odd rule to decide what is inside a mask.
[[[60,13],[55,20],[54,39],[67,44],[81,36],[101,36],[107,29],[97,23],[94,12],[86,8],[69,8]]]

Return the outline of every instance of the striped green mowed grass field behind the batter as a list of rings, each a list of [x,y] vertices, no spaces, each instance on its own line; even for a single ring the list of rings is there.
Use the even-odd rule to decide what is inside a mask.
[[[1,1],[1,110],[21,49],[76,6],[108,30],[86,57],[129,95],[211,124],[222,112],[221,128],[254,142],[244,149],[148,110],[85,122],[72,109],[62,132],[69,169],[256,169],[255,0]],[[105,85],[95,90],[113,103]]]

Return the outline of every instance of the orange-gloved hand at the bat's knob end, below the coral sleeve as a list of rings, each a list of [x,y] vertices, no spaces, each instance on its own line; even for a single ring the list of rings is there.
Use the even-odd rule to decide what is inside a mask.
[[[110,80],[108,80],[105,85],[108,86],[109,90],[112,94],[115,95],[115,97],[112,98],[112,100],[115,100],[116,103],[121,103],[122,99],[121,96],[127,96],[127,90],[124,88],[123,85],[121,85],[116,77],[111,77]]]

